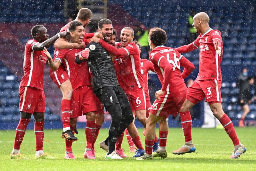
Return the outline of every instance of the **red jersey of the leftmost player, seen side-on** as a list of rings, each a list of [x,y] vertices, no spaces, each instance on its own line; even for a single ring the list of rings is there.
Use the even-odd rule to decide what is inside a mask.
[[[43,51],[34,51],[34,44],[37,40],[30,39],[26,43],[23,70],[24,76],[20,86],[30,86],[43,90],[43,70],[47,58]]]

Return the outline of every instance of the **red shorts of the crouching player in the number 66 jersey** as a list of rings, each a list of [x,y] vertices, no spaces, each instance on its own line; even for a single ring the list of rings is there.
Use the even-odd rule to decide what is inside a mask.
[[[163,94],[159,96],[160,100],[155,99],[154,104],[150,108],[150,113],[159,117],[168,118],[169,115],[174,117],[178,114],[182,104],[185,102],[187,97],[187,90]]]

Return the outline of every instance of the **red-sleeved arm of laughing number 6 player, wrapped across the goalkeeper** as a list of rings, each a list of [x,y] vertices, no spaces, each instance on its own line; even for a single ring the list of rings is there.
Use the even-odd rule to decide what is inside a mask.
[[[112,54],[114,56],[118,56],[118,57],[129,56],[129,52],[127,51],[126,48],[119,48],[118,49],[118,48],[108,44],[103,39],[99,39],[95,36],[93,38],[91,38],[91,42],[99,42],[99,44],[101,44],[101,46],[104,49],[106,49],[106,51],[108,51],[110,54]]]

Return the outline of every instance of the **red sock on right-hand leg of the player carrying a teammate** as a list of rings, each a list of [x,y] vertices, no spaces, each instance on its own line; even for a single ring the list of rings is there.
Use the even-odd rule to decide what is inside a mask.
[[[95,137],[95,120],[86,121],[85,136],[86,136],[86,148],[92,149],[92,144],[94,142],[94,137]]]

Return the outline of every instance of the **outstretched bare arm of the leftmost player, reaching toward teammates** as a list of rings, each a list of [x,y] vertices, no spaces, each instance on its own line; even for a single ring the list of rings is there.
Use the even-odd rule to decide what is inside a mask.
[[[69,32],[63,31],[61,33],[56,34],[55,36],[51,37],[50,39],[45,40],[42,43],[35,43],[33,45],[32,50],[33,51],[41,51],[43,50],[45,47],[48,48],[50,47],[56,40],[58,40],[59,38],[65,38],[67,35],[69,34]]]

